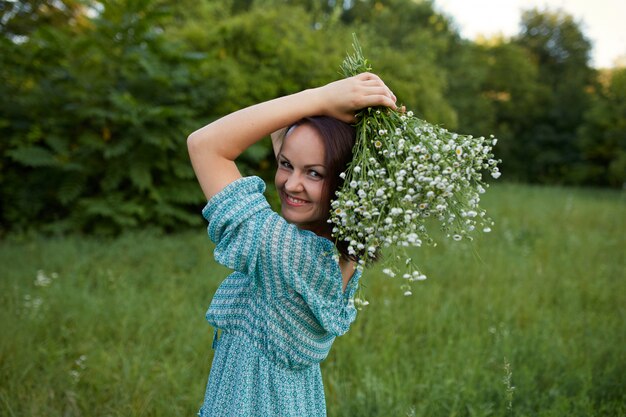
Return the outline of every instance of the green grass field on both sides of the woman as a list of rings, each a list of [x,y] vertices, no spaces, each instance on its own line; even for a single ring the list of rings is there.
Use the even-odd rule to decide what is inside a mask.
[[[415,252],[322,364],[328,415],[625,416],[624,192],[499,185],[496,227]],[[205,230],[0,242],[0,416],[192,416],[228,271]]]

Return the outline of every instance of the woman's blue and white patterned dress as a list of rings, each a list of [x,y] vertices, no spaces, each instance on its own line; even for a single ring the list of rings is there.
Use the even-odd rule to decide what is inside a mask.
[[[342,291],[334,244],[273,212],[264,191],[241,178],[202,210],[216,261],[235,272],[206,315],[215,355],[201,417],[325,416],[319,363],[356,317],[360,271]]]

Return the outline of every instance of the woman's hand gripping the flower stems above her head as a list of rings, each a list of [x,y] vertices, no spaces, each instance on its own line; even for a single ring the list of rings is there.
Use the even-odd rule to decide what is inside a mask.
[[[353,123],[354,113],[365,107],[396,109],[396,96],[380,77],[369,72],[326,84],[317,93],[322,114],[346,123]]]

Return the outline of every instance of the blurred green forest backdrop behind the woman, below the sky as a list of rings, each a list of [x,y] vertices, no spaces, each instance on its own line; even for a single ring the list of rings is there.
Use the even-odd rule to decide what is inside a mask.
[[[472,42],[429,1],[8,1],[0,233],[199,225],[187,135],[337,79],[352,32],[417,115],[495,134],[504,181],[624,186],[626,69],[591,68],[561,11],[528,10],[514,38]],[[269,141],[240,161],[263,177],[272,164]]]

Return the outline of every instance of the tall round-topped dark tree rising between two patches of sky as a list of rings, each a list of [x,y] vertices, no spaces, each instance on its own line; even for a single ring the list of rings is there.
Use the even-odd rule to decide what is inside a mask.
[[[518,132],[524,143],[519,157],[527,167],[522,178],[574,182],[573,167],[580,161],[576,132],[595,79],[589,66],[591,44],[570,15],[536,9],[523,13],[515,42],[530,52],[539,71],[532,125]]]

